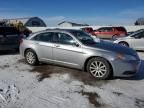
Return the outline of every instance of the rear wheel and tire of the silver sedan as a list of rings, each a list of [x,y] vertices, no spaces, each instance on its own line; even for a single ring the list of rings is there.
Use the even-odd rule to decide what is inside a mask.
[[[37,65],[39,63],[36,53],[32,49],[25,52],[25,60],[30,65]]]

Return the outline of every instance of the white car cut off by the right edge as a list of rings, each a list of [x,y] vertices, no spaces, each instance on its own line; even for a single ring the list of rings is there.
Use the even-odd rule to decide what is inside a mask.
[[[144,29],[138,30],[129,36],[117,38],[114,43],[131,47],[135,50],[144,50]]]

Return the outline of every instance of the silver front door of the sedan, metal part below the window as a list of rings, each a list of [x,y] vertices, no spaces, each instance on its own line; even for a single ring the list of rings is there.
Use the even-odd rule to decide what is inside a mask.
[[[82,54],[82,48],[71,45],[56,44],[53,48],[54,60],[68,65],[79,66]]]

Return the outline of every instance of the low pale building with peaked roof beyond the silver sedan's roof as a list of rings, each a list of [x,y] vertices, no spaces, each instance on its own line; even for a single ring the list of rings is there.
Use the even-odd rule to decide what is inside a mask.
[[[63,21],[63,22],[59,23],[58,26],[60,26],[60,27],[80,27],[80,26],[89,26],[89,25]]]

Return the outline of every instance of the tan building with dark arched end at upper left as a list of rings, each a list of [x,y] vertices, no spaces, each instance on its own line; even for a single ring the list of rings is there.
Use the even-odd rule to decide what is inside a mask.
[[[39,17],[3,19],[3,21],[5,21],[7,24],[22,23],[27,27],[46,27],[45,22]]]

